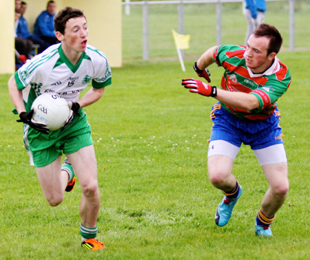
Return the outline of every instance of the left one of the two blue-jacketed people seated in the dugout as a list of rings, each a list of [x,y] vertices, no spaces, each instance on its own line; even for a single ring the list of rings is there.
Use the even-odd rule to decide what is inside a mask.
[[[21,17],[19,18],[19,23],[17,25],[17,30],[16,30],[17,36],[22,39],[27,39],[29,41],[32,41],[32,43],[39,45],[38,54],[43,52],[43,50],[47,49],[50,46],[50,44],[38,37],[33,36],[29,32],[28,22],[25,19],[25,17],[23,17],[23,14],[25,14],[25,11],[27,10],[27,3],[25,3],[24,1],[21,1],[21,8],[19,10],[21,12]]]

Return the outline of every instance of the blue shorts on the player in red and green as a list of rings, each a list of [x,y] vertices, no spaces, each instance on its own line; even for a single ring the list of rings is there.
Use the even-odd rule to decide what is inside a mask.
[[[279,125],[280,112],[265,120],[241,119],[229,113],[223,107],[214,104],[211,120],[214,122],[210,141],[225,140],[240,147],[248,144],[251,149],[262,149],[274,144],[282,144],[282,128]],[[277,116],[276,116],[277,114]]]

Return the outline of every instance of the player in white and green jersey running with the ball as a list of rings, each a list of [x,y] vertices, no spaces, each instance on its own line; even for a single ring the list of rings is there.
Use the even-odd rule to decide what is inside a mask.
[[[71,191],[79,177],[81,245],[102,250],[96,239],[100,207],[97,165],[90,125],[83,107],[101,98],[111,84],[111,69],[103,52],[87,45],[87,21],[81,10],[64,8],[54,19],[56,37],[61,43],[25,63],[9,80],[9,92],[23,122],[24,143],[34,164],[45,199],[51,206],[61,204],[65,191]],[[92,82],[92,88],[79,94]],[[32,122],[32,102],[37,96],[56,93],[68,101],[73,113],[62,129],[49,131],[45,124]],[[62,164],[61,155],[68,160]]]

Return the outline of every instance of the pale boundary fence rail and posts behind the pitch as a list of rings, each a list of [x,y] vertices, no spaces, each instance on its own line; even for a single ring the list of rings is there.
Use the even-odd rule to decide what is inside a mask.
[[[149,60],[149,5],[178,5],[178,33],[184,34],[184,5],[186,3],[216,3],[216,45],[222,43],[222,3],[238,3],[244,0],[172,0],[172,1],[130,1],[122,3],[125,6],[125,14],[130,14],[130,6],[141,5],[143,12],[143,60]],[[280,0],[267,0],[280,1]],[[294,51],[295,23],[294,23],[294,0],[289,1],[289,51]]]

